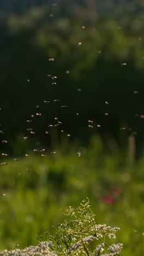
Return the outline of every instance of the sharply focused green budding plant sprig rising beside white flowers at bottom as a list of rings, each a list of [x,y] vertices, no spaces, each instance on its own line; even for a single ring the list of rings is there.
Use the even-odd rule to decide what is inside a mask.
[[[106,224],[96,224],[95,214],[91,210],[89,199],[83,200],[80,207],[75,213],[72,207],[66,211],[65,216],[72,217],[70,222],[64,220],[55,229],[55,234],[49,237],[52,241],[50,248],[58,255],[94,255],[94,256],[114,256],[121,252],[122,244],[109,246],[104,240],[106,237],[116,238],[116,232],[119,228],[112,228]],[[104,237],[104,240],[103,240]],[[39,237],[38,237],[39,238]],[[39,240],[41,241],[40,237]],[[94,252],[89,251],[87,246],[93,240],[100,241],[100,245],[96,245]],[[104,251],[104,246],[107,247],[109,254],[101,254]]]

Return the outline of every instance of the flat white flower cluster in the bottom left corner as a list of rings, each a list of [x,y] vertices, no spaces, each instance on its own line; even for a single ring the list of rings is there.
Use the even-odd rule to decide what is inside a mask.
[[[55,252],[49,251],[49,246],[51,242],[40,242],[37,246],[29,246],[25,249],[15,249],[15,250],[4,250],[0,252],[1,256],[57,256]]]

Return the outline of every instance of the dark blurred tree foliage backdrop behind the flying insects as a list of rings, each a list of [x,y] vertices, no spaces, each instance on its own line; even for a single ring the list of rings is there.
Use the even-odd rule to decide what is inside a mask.
[[[39,105],[43,115],[32,125],[43,143],[44,130],[58,116],[65,129],[83,141],[88,138],[87,119],[101,124],[103,137],[118,140],[119,127],[124,124],[128,133],[137,132],[140,148],[143,10],[142,0],[1,1],[4,136],[14,139],[17,133],[26,132],[26,120]],[[55,61],[49,61],[52,58]],[[57,85],[51,85],[53,80],[47,74],[57,76]],[[68,109],[53,103],[56,98]],[[50,101],[47,107],[44,100]],[[110,102],[109,107],[105,101]],[[75,119],[77,112],[80,115]],[[108,118],[105,112],[109,112]]]

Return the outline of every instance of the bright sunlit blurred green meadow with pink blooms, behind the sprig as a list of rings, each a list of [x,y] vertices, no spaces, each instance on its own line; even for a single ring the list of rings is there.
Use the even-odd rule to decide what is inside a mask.
[[[52,234],[65,208],[88,196],[97,224],[121,228],[116,242],[124,243],[123,255],[142,255],[143,158],[131,165],[126,151],[112,142],[106,149],[99,137],[79,148],[80,157],[76,146],[63,148],[0,166],[1,249],[37,244],[36,235]]]

